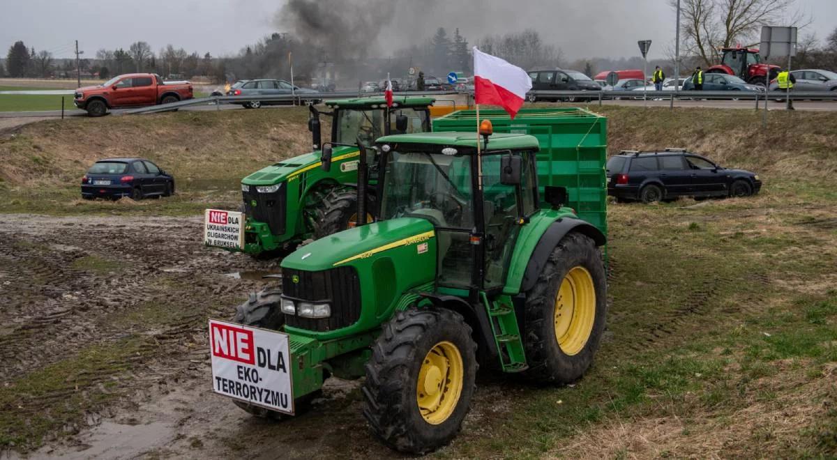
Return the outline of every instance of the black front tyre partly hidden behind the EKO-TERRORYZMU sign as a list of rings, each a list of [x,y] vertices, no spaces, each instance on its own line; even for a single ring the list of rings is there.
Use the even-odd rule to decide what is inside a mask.
[[[280,330],[285,325],[285,314],[282,313],[280,306],[281,294],[280,286],[262,289],[258,293],[250,293],[249,298],[235,308],[233,322],[262,329]],[[294,401],[295,410],[297,412],[306,410],[310,406],[311,400],[320,395],[321,391],[315,391],[309,395],[296,398]],[[249,402],[238,400],[233,400],[233,402],[254,417],[277,421],[290,417],[262,406],[255,406]]]

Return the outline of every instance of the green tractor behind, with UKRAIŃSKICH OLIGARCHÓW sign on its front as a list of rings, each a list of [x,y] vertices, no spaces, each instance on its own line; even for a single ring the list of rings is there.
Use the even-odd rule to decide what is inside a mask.
[[[243,203],[234,228],[222,228],[240,238],[213,238],[213,227],[207,210],[204,243],[208,246],[244,252],[253,256],[272,257],[288,253],[309,238],[346,229],[357,222],[357,163],[360,155],[354,146],[359,137],[371,146],[382,135],[419,133],[430,130],[430,108],[434,99],[398,97],[388,108],[383,97],[330,100],[329,112],[309,106],[308,128],[314,151],[295,156],[244,177],[241,181]],[[336,148],[330,171],[321,169],[320,116],[331,116],[331,141]],[[374,181],[374,171],[372,171]],[[370,207],[375,197],[367,195]],[[234,212],[224,212],[224,215]],[[371,220],[367,216],[367,220]],[[217,235],[215,235],[217,236]],[[224,236],[223,234],[221,236]],[[232,243],[230,243],[232,241]]]

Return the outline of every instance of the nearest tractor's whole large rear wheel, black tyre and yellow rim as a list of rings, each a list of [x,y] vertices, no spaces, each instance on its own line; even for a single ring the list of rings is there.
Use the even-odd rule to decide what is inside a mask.
[[[567,234],[526,294],[526,377],[567,384],[583,376],[604,332],[606,283],[593,240]]]

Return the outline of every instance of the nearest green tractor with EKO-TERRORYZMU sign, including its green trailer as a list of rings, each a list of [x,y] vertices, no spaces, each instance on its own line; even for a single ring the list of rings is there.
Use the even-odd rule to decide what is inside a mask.
[[[281,289],[251,294],[232,323],[210,320],[214,391],[280,418],[328,376],[365,376],[372,432],[425,453],[460,431],[480,365],[546,384],[583,376],[607,308],[605,220],[579,218],[604,212],[605,119],[489,112],[506,132],[485,121],[480,139],[446,130],[475,128],[474,112],[449,117],[441,132],[356,141],[357,212],[374,222],[298,248]],[[336,151],[323,147],[325,171]]]

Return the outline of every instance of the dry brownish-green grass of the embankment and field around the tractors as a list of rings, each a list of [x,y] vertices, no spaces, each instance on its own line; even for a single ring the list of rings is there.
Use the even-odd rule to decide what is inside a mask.
[[[609,151],[688,147],[757,171],[763,192],[611,203],[608,330],[593,368],[562,388],[480,375],[463,432],[436,456],[837,456],[837,115],[778,114],[765,132],[748,110],[601,111]],[[304,109],[236,110],[27,125],[0,135],[0,212],[179,216],[233,207],[240,177],[306,150],[306,118]],[[131,205],[82,202],[80,176],[102,156],[149,157],[181,192]],[[85,356],[105,353],[98,346],[20,376],[20,385],[33,395],[49,392],[35,381],[63,388],[90,366]],[[141,349],[124,346],[118,353]],[[106,404],[95,394],[56,407],[54,423],[25,442],[37,445],[56,424]],[[13,396],[0,389],[0,427],[12,431],[25,422],[5,410]],[[333,418],[312,414],[283,429]],[[244,444],[226,441],[234,453]]]

